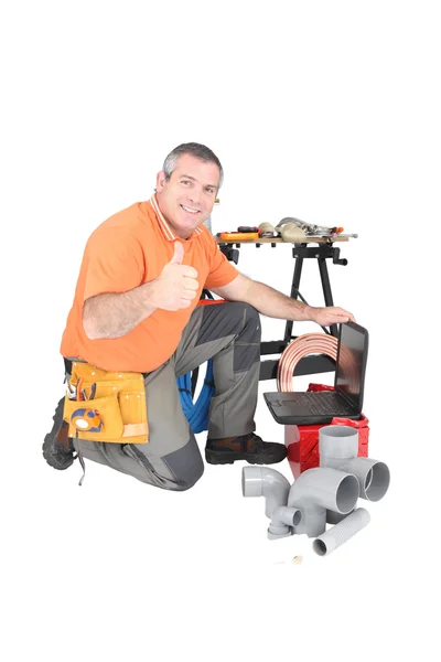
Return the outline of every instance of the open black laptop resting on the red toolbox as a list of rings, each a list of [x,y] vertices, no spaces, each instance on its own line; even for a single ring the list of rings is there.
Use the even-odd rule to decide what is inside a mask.
[[[341,324],[334,391],[263,393],[277,423],[326,425],[334,417],[361,418],[368,343],[366,329],[355,322]]]

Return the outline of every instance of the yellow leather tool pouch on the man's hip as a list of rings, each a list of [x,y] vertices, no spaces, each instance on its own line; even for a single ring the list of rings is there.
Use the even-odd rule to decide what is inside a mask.
[[[68,436],[109,444],[147,444],[146,389],[142,373],[106,372],[72,362],[63,419]]]

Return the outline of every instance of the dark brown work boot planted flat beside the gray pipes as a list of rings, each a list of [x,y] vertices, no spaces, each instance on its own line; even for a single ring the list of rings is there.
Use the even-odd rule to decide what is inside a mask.
[[[287,457],[283,444],[262,441],[254,433],[227,439],[207,439],[205,459],[209,465],[233,465],[246,460],[249,465],[275,465]]]

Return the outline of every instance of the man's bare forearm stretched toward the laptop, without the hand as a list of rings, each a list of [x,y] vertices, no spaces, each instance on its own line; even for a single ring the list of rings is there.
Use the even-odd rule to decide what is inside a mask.
[[[245,300],[267,317],[292,321],[311,319],[310,306],[256,280],[249,280]]]

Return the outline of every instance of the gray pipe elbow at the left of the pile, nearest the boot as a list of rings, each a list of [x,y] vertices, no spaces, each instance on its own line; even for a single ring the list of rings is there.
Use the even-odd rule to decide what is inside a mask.
[[[244,467],[241,493],[244,496],[265,496],[265,514],[271,517],[280,505],[287,505],[290,483],[284,476],[268,467]]]

